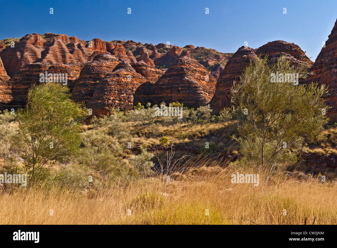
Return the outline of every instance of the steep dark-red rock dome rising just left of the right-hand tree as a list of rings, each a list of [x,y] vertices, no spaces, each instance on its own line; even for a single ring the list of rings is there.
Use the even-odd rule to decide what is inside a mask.
[[[250,60],[255,60],[256,58],[257,56],[252,48],[242,46],[228,60],[218,78],[214,96],[210,101],[214,113],[218,114],[224,107],[232,105],[231,88],[233,82],[240,82],[240,76],[249,65]]]

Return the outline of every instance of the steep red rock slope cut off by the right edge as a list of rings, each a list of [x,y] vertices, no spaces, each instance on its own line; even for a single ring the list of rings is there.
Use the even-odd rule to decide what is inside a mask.
[[[314,73],[311,77],[301,80],[300,83],[315,82],[326,84],[329,88],[329,96],[326,103],[331,107],[328,112],[331,118],[337,118],[337,20],[333,27],[325,47],[318,54],[311,68]]]

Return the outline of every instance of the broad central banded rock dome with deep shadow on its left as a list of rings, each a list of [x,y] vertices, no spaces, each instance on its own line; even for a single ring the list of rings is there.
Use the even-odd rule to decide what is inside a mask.
[[[154,84],[142,85],[134,95],[134,104],[167,104],[179,101],[197,108],[213,96],[215,80],[204,66],[188,56],[179,57]]]

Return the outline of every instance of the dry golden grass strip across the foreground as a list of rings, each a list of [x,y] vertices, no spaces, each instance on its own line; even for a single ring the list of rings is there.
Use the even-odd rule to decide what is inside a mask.
[[[1,224],[304,224],[307,219],[312,224],[316,217],[315,224],[337,224],[335,181],[323,184],[319,179],[279,176],[265,187],[260,175],[259,186],[254,187],[231,183],[232,173],[236,171],[230,167],[202,167],[199,173],[195,168],[186,173],[183,181],[156,177],[128,182],[126,186],[139,194],[127,188],[84,193],[58,187],[1,193],[0,220]]]

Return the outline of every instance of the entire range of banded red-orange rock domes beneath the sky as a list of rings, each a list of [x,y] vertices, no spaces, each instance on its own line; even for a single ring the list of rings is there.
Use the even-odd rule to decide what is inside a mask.
[[[310,78],[331,86],[328,101],[334,106],[336,31],[335,25],[312,67],[316,75]],[[107,113],[111,107],[129,110],[138,102],[162,101],[179,101],[193,108],[210,103],[219,113],[232,105],[233,81],[240,81],[251,60],[268,56],[269,63],[274,63],[282,54],[292,65],[313,64],[298,45],[281,40],[257,49],[242,46],[233,55],[193,45],[28,34],[0,41],[0,110],[25,106],[28,89],[48,72],[66,73],[73,99],[85,102],[94,115]]]

